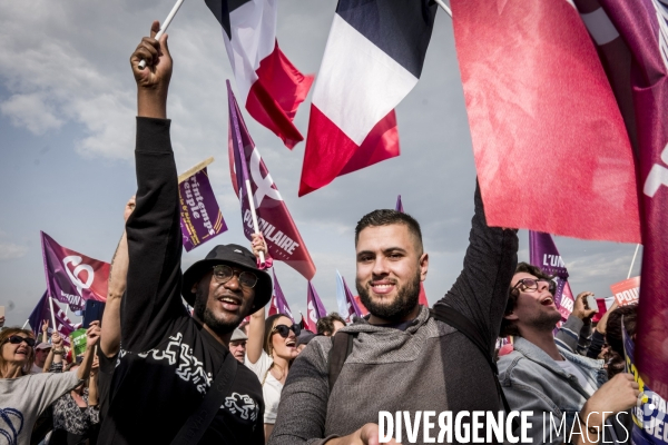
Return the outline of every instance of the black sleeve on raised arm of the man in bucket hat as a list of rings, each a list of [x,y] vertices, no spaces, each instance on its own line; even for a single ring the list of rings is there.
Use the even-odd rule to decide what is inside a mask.
[[[178,179],[167,119],[137,118],[137,205],[128,218],[128,283],[121,303],[121,345],[140,353],[155,347],[181,304],[181,234]]]

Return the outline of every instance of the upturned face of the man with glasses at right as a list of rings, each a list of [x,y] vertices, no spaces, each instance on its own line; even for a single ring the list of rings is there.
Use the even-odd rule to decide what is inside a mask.
[[[517,273],[510,283],[511,288],[524,278],[538,279],[534,275],[525,271]],[[554,305],[554,297],[549,287],[549,283],[544,280],[539,281],[538,289],[534,290],[519,285],[515,290],[519,294],[514,308],[512,313],[505,315],[505,318],[515,322],[520,334],[527,329],[551,332],[561,319],[561,314]]]

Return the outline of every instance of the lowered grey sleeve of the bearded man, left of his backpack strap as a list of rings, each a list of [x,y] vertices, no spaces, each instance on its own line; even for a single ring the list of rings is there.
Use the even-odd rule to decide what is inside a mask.
[[[289,368],[269,445],[321,445],[336,437],[324,437],[330,398],[327,346],[328,337],[314,338]]]

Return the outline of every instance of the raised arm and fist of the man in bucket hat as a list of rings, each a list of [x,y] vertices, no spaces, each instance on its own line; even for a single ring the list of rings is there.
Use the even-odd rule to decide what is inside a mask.
[[[121,344],[140,353],[155,347],[180,316],[181,233],[176,164],[169,138],[167,90],[171,57],[156,21],[130,58],[137,82],[136,207],[126,224],[129,266],[121,301]],[[139,69],[140,60],[147,61]]]

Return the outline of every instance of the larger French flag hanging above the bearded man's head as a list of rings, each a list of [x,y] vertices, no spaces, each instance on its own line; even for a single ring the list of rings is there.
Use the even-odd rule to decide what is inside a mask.
[[[436,6],[340,0],[313,91],[299,196],[399,156],[394,108],[415,87]]]

